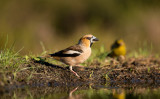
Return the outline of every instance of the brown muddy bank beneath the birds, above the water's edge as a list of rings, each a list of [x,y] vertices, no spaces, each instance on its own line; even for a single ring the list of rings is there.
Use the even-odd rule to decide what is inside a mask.
[[[77,78],[66,66],[44,61],[30,60],[23,64],[16,75],[7,74],[1,87],[11,85],[53,85],[79,86],[84,84],[109,86],[160,85],[160,60],[149,58],[128,58],[125,61],[107,59],[104,65],[93,62],[88,67],[73,67],[82,79]],[[1,77],[2,74],[0,74]],[[2,89],[2,88],[0,88]]]

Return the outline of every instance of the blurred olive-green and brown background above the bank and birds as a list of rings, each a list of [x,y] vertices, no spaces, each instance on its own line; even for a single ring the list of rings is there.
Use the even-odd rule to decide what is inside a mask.
[[[160,51],[160,0],[0,0],[0,47],[16,42],[21,54],[40,54],[76,44],[85,34],[107,51],[118,38],[128,52]],[[147,46],[147,47],[146,47]]]

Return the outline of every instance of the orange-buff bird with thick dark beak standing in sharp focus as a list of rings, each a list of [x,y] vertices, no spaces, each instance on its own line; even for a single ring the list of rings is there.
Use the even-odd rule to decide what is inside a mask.
[[[75,71],[73,71],[72,66],[79,65],[89,58],[91,55],[91,46],[96,41],[99,41],[99,39],[92,34],[87,34],[81,37],[77,44],[53,54],[48,54],[45,57],[53,58],[69,65],[69,70],[77,77],[80,77]]]

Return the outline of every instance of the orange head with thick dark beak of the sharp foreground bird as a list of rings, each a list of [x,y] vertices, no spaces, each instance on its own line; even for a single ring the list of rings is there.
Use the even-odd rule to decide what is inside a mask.
[[[91,47],[92,44],[96,41],[99,41],[99,40],[95,36],[88,34],[88,35],[84,35],[83,37],[81,37],[78,44],[84,45],[86,47]]]

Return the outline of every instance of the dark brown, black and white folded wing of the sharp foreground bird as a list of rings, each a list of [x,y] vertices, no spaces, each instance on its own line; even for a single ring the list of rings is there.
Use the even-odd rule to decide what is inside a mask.
[[[81,53],[83,53],[81,47],[79,45],[74,45],[50,55],[51,57],[76,57]]]

